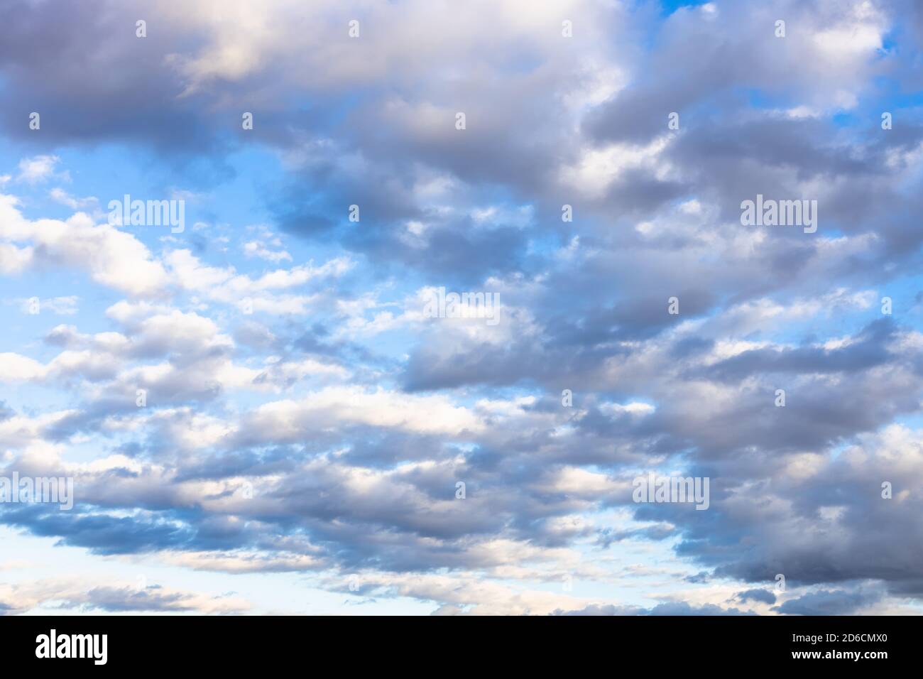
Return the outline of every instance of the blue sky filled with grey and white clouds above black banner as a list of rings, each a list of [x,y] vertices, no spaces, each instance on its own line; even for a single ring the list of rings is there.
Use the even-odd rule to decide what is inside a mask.
[[[919,3],[0,25],[0,614],[923,612]]]

